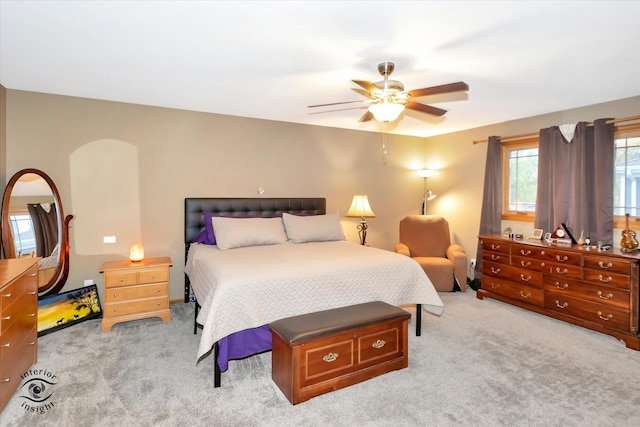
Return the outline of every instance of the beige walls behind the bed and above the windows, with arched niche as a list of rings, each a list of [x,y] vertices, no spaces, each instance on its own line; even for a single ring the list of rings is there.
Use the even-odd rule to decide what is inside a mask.
[[[141,239],[148,257],[170,256],[171,299],[182,298],[185,197],[326,197],[344,215],[368,194],[377,217],[367,241],[392,250],[398,221],[420,212],[416,169],[438,169],[429,213],[450,222],[453,240],[475,257],[489,135],[638,114],[640,97],[428,139],[246,119],[8,90],[7,178],[32,167],[56,183],[71,222],[65,289],[102,282],[102,262],[128,256]],[[73,180],[72,180],[73,177]],[[343,220],[357,242],[356,219]],[[82,232],[79,232],[81,230]],[[102,243],[115,235],[116,244]]]

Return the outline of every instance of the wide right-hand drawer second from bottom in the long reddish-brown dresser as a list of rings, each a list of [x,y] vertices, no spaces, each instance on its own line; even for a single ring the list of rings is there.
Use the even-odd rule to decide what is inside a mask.
[[[630,310],[630,292],[628,290],[575,280],[562,280],[550,276],[544,278],[544,288],[558,294],[611,305],[622,310]]]

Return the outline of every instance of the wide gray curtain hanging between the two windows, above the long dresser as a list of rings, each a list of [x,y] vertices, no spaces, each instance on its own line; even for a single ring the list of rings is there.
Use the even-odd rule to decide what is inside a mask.
[[[575,239],[613,243],[613,124],[580,122],[567,141],[558,126],[540,130],[534,226],[553,232],[562,223]]]

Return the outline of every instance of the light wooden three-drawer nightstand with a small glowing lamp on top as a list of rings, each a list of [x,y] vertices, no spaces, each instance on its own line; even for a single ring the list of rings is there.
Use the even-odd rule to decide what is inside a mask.
[[[171,320],[169,267],[171,259],[168,257],[102,264],[100,273],[104,273],[105,300],[102,332],[129,320],[148,317],[159,317],[164,322]]]

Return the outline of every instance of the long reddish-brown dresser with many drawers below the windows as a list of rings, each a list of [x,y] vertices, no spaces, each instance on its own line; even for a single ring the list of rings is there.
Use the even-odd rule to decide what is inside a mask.
[[[609,334],[640,350],[639,256],[500,235],[479,239],[479,299],[494,298]]]

